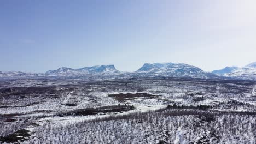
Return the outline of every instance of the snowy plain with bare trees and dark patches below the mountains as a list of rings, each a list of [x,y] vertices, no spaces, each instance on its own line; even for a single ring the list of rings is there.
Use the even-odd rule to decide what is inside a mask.
[[[0,81],[1,143],[255,143],[256,82]]]

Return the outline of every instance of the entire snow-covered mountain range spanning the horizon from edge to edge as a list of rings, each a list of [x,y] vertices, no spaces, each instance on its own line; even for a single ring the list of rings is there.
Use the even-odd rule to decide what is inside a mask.
[[[256,80],[256,62],[245,67],[225,67],[224,69],[214,70],[212,73],[203,71],[193,65],[184,63],[145,63],[141,68],[134,72],[121,72],[115,69],[114,65],[97,65],[72,69],[61,67],[56,70],[49,70],[46,73],[24,73],[24,72],[1,72],[0,79],[19,79],[19,78],[78,78],[89,79],[118,79],[128,77],[191,77],[203,79],[242,79]]]

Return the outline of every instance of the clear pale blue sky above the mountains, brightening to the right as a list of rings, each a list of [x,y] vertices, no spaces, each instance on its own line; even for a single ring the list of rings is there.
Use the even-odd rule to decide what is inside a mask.
[[[0,71],[256,61],[256,1],[0,1]]]

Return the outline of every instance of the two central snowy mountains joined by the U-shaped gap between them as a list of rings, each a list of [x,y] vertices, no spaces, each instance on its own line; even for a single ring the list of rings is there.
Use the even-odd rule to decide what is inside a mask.
[[[145,63],[135,72],[120,72],[114,65],[97,65],[72,69],[62,67],[57,70],[49,70],[47,76],[88,76],[88,75],[120,75],[121,77],[148,77],[148,76],[168,76],[168,77],[194,77],[194,78],[217,78],[217,75],[207,73],[200,68],[184,63]]]

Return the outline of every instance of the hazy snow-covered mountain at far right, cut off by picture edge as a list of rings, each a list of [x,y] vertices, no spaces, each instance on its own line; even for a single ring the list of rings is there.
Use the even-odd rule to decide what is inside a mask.
[[[233,79],[256,80],[256,62],[250,63],[245,67],[225,67],[220,70],[213,70],[213,74]]]

